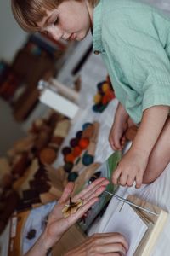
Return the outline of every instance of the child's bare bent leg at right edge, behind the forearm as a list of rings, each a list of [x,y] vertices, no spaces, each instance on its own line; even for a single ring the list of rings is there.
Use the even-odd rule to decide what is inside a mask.
[[[143,183],[151,183],[156,177],[159,177],[161,172],[170,162],[170,118],[167,119],[161,135],[158,138],[155,147],[153,148],[148,166],[144,172]]]

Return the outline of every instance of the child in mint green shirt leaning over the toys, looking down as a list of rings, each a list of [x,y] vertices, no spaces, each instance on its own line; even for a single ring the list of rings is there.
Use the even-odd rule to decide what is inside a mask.
[[[110,133],[122,149],[127,126],[139,125],[112,181],[136,188],[158,177],[170,160],[170,17],[133,0],[12,0],[29,32],[80,41],[93,31],[119,101]]]

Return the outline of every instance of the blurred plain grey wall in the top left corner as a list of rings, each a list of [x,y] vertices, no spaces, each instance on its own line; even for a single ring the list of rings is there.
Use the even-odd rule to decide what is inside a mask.
[[[26,32],[12,15],[10,0],[0,1],[0,60],[12,61],[16,51],[26,40]]]

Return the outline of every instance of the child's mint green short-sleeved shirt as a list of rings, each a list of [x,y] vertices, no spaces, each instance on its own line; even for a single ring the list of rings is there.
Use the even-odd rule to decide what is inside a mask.
[[[135,123],[146,108],[170,106],[169,16],[133,0],[100,0],[94,9],[93,47]]]

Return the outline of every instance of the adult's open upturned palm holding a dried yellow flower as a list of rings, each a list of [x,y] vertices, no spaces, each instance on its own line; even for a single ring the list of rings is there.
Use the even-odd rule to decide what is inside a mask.
[[[74,189],[74,183],[67,184],[58,204],[48,215],[48,224],[43,235],[47,248],[52,247],[55,242],[59,241],[65,231],[68,230],[72,224],[75,224],[77,220],[99,200],[98,196],[105,191],[105,187],[108,183],[109,181],[105,177],[96,179],[94,183],[91,183],[79,194],[71,198],[71,201],[73,202],[76,202],[78,199],[82,199],[83,205],[77,210],[77,212],[71,214],[68,218],[64,218],[62,209],[65,207],[65,204],[69,203],[69,198],[71,197],[71,193]]]

